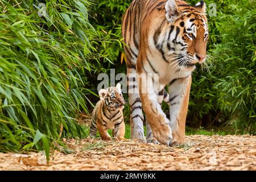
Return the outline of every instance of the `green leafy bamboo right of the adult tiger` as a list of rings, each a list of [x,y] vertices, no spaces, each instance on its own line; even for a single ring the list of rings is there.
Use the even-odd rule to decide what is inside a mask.
[[[214,1],[206,1],[208,4]],[[211,74],[193,77],[189,121],[193,125],[226,123],[235,133],[256,131],[255,1],[218,1],[209,16]]]

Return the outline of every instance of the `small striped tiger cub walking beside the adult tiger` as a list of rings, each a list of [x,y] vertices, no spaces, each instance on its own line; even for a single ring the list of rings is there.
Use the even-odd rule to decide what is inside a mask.
[[[123,108],[125,100],[121,92],[121,85],[101,89],[100,101],[97,102],[90,123],[90,137],[95,138],[97,130],[103,140],[111,140],[108,129],[113,130],[113,136],[118,140],[125,138],[125,122]]]

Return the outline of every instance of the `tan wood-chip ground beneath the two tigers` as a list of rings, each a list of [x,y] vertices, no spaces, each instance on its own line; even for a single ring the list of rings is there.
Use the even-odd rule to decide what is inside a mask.
[[[187,137],[171,148],[131,142],[65,141],[73,154],[53,152],[49,165],[42,153],[0,154],[0,170],[256,170],[256,137]]]

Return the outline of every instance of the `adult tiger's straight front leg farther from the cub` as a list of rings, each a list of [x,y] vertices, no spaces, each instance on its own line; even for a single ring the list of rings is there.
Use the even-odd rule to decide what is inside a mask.
[[[169,85],[170,95],[170,126],[172,129],[172,145],[185,142],[185,121],[187,118],[191,75],[176,78]]]

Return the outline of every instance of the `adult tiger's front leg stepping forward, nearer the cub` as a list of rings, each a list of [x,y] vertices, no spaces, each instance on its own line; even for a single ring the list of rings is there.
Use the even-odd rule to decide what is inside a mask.
[[[158,142],[170,146],[172,144],[172,131],[169,125],[170,121],[158,101],[159,88],[155,88],[154,79],[146,73],[138,75],[137,80],[139,80],[142,108],[146,114],[147,122],[151,126],[154,138]]]

